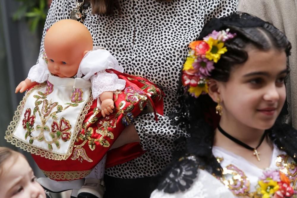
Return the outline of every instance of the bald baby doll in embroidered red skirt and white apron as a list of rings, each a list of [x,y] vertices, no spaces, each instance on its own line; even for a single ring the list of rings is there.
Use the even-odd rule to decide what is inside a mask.
[[[106,152],[147,101],[160,109],[161,91],[145,79],[121,73],[107,50],[92,50],[91,34],[78,21],[55,23],[44,42],[46,53],[16,88],[17,93],[33,86],[5,138],[32,153],[50,179],[86,178],[78,197],[101,198]],[[128,161],[131,153],[143,154],[138,145],[127,145],[130,153],[120,162],[114,161],[120,152],[113,153],[111,164]]]

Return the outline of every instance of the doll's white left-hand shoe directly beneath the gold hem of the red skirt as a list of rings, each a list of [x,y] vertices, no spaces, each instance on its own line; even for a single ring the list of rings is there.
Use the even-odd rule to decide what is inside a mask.
[[[59,193],[70,189],[80,189],[83,179],[71,181],[56,181],[50,178],[38,178],[37,182],[47,191]]]

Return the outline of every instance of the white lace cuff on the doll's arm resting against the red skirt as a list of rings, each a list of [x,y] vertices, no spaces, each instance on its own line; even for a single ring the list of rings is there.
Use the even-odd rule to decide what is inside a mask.
[[[105,70],[97,72],[90,79],[93,98],[97,98],[104,91],[123,90],[126,85],[125,80],[119,79],[116,74],[108,73]]]

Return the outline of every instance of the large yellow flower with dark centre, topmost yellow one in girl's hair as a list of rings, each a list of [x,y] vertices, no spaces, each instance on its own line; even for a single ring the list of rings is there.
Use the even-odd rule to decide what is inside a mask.
[[[215,63],[221,58],[221,54],[227,52],[227,48],[224,47],[223,42],[218,42],[218,40],[214,40],[212,37],[205,41],[209,45],[209,50],[206,52],[205,57],[208,60],[214,60]]]

